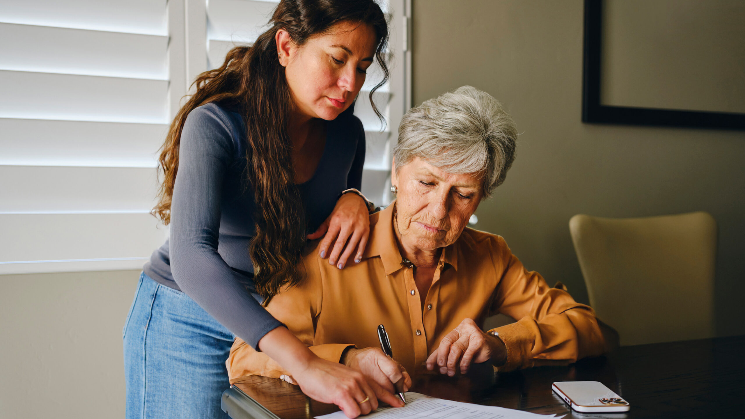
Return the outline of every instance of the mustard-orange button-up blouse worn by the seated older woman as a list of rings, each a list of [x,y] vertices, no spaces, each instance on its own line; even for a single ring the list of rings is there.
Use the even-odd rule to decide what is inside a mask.
[[[390,336],[396,361],[412,374],[464,318],[483,324],[503,313],[516,323],[495,329],[507,346],[500,371],[565,365],[603,352],[595,312],[527,271],[500,236],[466,228],[446,247],[422,305],[413,269],[402,265],[393,233],[393,205],[370,220],[364,258],[339,270],[314,247],[303,259],[305,280],[283,289],[267,306],[323,359],[343,350],[379,347],[378,324]],[[231,382],[245,375],[288,374],[267,355],[236,338],[227,361]]]

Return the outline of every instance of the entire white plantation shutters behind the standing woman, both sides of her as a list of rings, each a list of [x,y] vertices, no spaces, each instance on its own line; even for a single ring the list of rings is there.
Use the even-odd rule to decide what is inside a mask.
[[[276,1],[0,0],[0,274],[136,269],[167,229],[149,214],[156,153],[191,81],[250,45]],[[387,204],[408,109],[410,0],[390,13],[390,81],[368,72],[363,192]]]

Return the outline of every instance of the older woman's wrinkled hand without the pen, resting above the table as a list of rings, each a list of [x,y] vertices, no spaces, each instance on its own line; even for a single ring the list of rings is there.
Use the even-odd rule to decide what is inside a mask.
[[[471,362],[480,364],[489,360],[503,365],[507,361],[507,347],[500,338],[482,332],[473,319],[466,318],[430,354],[427,369],[433,371],[437,366],[440,374],[452,377],[456,365],[460,364],[460,373],[466,374]]]

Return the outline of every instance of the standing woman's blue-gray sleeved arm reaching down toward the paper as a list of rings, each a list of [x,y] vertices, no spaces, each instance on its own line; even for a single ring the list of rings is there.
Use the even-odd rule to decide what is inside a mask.
[[[281,323],[247,291],[250,277],[234,271],[218,253],[221,192],[237,146],[223,118],[217,107],[207,105],[186,119],[171,203],[171,271],[181,291],[256,347]]]

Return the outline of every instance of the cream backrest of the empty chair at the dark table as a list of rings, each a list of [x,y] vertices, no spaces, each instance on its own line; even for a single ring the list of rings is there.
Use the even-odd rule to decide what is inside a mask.
[[[569,220],[597,317],[621,345],[714,336],[717,223],[707,212]]]

